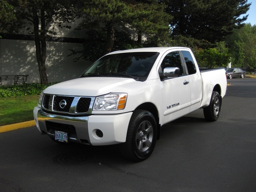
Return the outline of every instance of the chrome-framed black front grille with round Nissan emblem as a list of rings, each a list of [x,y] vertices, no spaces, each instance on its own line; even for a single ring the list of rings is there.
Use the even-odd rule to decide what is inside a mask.
[[[90,114],[95,97],[45,94],[42,108],[66,114]]]

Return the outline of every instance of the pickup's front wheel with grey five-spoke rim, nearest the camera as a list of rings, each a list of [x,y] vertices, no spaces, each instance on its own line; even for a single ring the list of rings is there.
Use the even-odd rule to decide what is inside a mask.
[[[147,159],[155,148],[156,132],[154,116],[146,110],[135,110],[128,126],[126,142],[120,144],[120,152],[133,161]]]

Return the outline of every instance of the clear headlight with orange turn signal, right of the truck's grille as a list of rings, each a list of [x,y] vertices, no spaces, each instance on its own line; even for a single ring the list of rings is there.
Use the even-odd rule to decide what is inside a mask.
[[[125,107],[127,93],[110,93],[95,99],[93,110],[122,110]]]

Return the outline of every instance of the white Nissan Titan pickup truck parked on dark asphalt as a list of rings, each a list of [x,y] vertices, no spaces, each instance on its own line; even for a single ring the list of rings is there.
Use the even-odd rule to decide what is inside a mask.
[[[142,161],[162,125],[199,108],[216,121],[226,86],[225,70],[200,72],[189,48],[116,51],[80,78],[43,90],[34,119],[56,142],[119,144],[124,157]]]

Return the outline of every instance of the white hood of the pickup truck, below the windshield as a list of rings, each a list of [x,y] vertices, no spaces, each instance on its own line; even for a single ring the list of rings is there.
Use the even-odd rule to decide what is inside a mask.
[[[115,92],[120,88],[138,84],[132,78],[90,77],[78,78],[52,85],[44,90],[45,94],[99,96]]]

